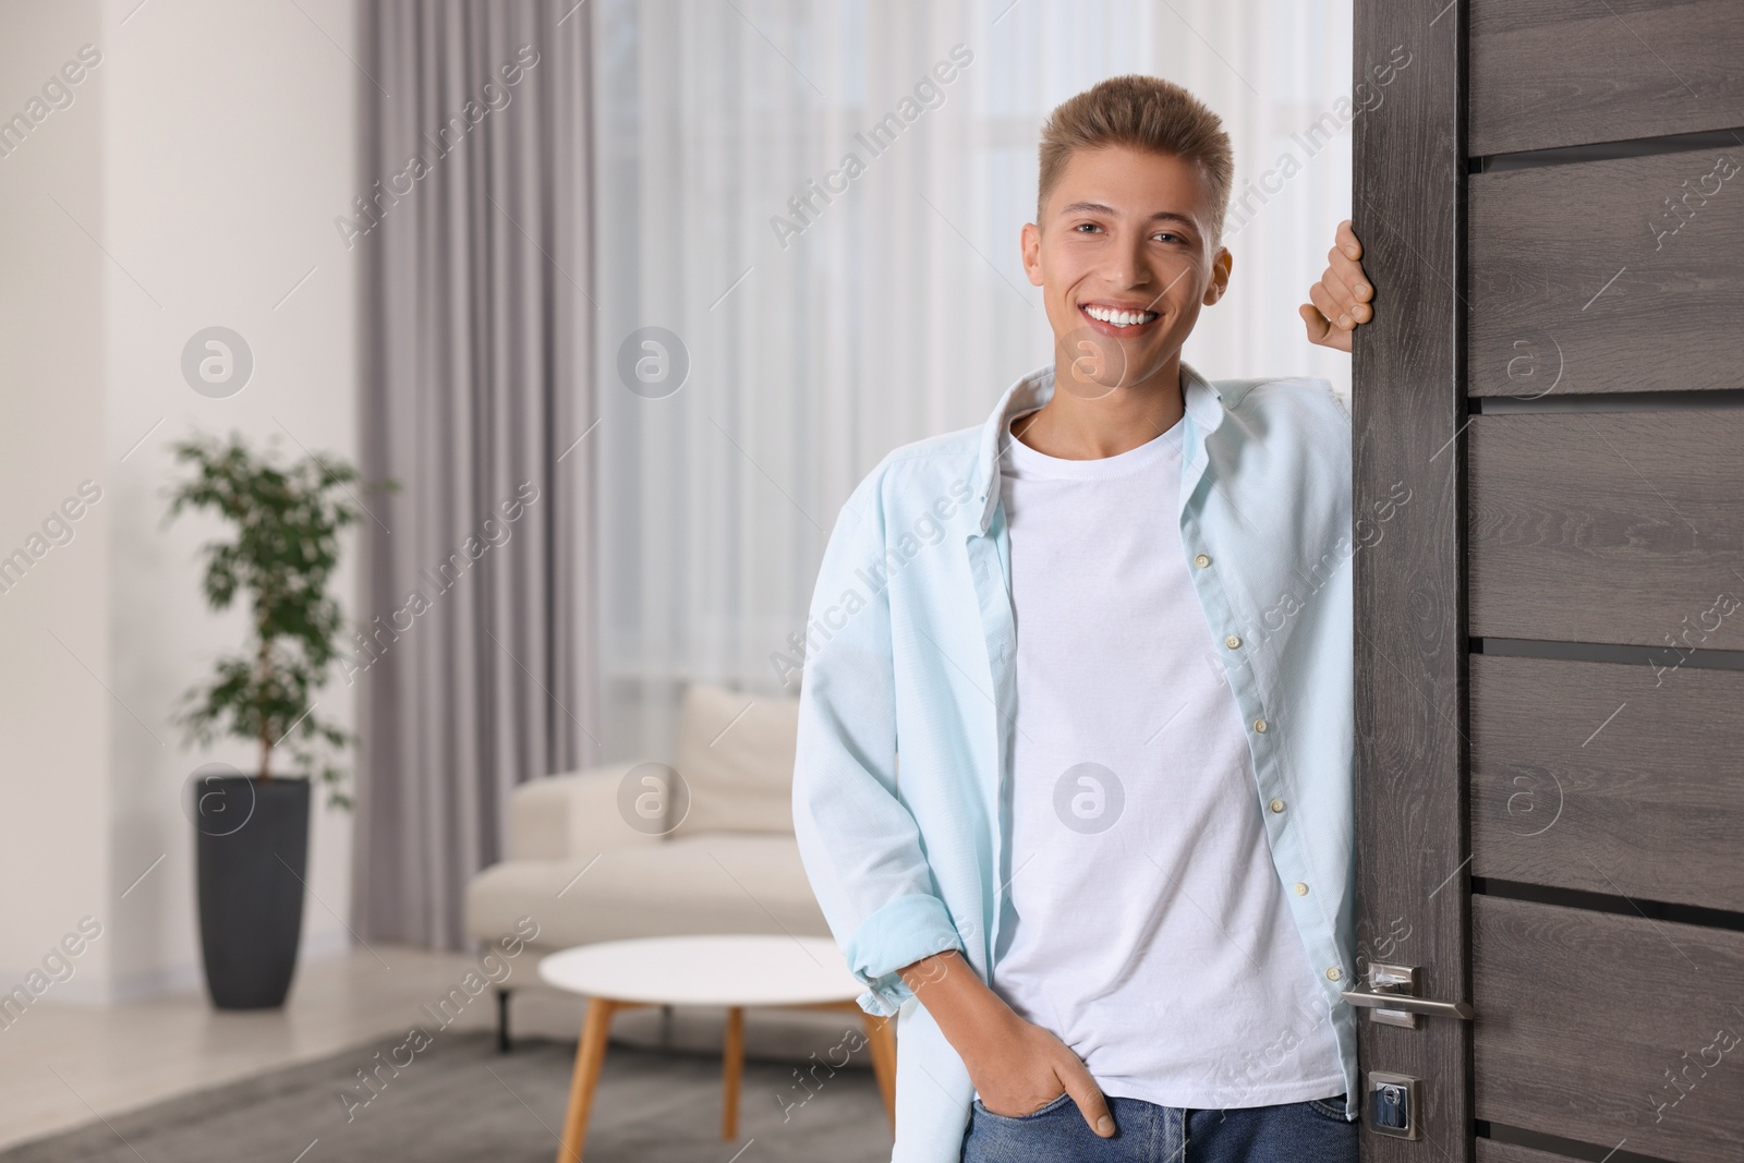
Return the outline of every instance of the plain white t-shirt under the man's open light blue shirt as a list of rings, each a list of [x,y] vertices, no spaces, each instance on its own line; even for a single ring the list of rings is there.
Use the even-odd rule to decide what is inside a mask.
[[[1233,1109],[1345,1072],[1188,575],[1182,424],[1001,459],[1017,617],[1012,914],[992,989],[1107,1095]]]

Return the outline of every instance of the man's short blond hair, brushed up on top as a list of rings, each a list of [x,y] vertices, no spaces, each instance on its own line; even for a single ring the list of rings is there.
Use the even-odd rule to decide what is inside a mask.
[[[1230,183],[1235,176],[1235,155],[1223,119],[1172,80],[1142,73],[1109,77],[1048,113],[1046,124],[1041,126],[1038,225],[1046,225],[1041,216],[1048,195],[1066,173],[1073,150],[1106,145],[1125,145],[1196,162],[1210,190],[1212,241],[1223,234]]]

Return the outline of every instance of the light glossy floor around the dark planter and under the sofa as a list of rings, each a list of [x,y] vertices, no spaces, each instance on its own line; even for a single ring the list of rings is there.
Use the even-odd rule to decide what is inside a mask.
[[[476,961],[426,949],[356,949],[303,962],[283,1010],[216,1011],[204,992],[119,1006],[33,1004],[0,1030],[0,1147],[96,1118],[314,1062],[385,1036],[399,1041]],[[581,1027],[582,999],[546,990],[514,997],[513,1029],[567,1037]],[[851,1020],[851,1018],[849,1018]],[[745,1053],[804,1060],[841,1015],[750,1011]],[[487,992],[453,1020],[455,1032],[495,1029]],[[710,1051],[722,1015],[706,1010],[624,1013],[619,1044]]]

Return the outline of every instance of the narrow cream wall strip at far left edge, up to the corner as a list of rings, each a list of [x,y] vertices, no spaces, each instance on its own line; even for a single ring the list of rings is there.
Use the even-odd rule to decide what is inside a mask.
[[[80,44],[98,5],[0,7],[0,119],[23,113]],[[103,185],[101,66],[0,157],[0,556],[31,537],[82,479],[103,499],[0,593],[0,989],[82,915],[110,915],[108,586],[113,466],[103,436],[103,251],[87,227]],[[49,108],[38,106],[38,113]],[[28,113],[26,113],[28,115]],[[106,978],[87,950],[66,987]],[[59,989],[59,987],[58,987]]]

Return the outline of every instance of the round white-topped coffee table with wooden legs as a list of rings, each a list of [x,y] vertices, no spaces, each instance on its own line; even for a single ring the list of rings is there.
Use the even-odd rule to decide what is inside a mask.
[[[884,1112],[891,1126],[896,1123],[895,1030],[889,1018],[874,1017],[855,1001],[865,987],[848,971],[841,950],[828,938],[651,936],[600,942],[546,956],[539,961],[539,976],[548,985],[588,997],[558,1163],[581,1160],[612,1015],[633,1006],[726,1006],[722,1139],[738,1137],[746,1006],[853,1010],[865,1024]]]

